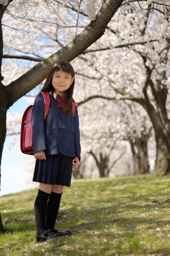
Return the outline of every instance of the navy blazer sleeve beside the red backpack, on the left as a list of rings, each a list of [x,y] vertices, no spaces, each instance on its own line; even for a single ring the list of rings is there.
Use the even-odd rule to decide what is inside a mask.
[[[31,127],[33,130],[33,154],[39,150],[46,150],[44,116],[44,98],[42,94],[38,94],[33,104],[31,116]]]

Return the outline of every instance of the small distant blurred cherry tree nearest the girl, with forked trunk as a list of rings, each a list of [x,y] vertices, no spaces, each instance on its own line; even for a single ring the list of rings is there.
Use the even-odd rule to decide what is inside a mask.
[[[126,152],[125,145],[120,142],[122,129],[117,106],[114,102],[94,99],[90,106],[87,103],[78,106],[78,110],[82,148],[93,156],[100,177],[108,177]]]

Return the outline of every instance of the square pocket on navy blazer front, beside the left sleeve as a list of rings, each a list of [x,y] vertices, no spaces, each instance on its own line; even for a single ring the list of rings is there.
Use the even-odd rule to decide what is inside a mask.
[[[57,129],[45,130],[46,149],[52,150],[57,148]]]

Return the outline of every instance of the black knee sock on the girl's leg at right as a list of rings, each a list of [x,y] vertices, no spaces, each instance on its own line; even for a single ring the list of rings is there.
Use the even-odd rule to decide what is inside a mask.
[[[57,218],[57,214],[59,212],[60,201],[61,201],[61,194],[57,194],[51,192],[49,196],[49,201],[47,204],[47,214],[46,214],[46,229],[54,229],[55,221]]]

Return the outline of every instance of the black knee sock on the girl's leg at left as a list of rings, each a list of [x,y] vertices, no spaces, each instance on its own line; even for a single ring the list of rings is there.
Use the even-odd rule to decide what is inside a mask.
[[[35,224],[37,228],[37,235],[42,236],[45,229],[45,217],[47,211],[47,202],[49,199],[48,193],[38,190],[37,198],[34,205]]]

